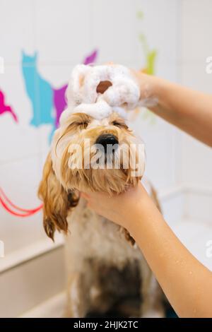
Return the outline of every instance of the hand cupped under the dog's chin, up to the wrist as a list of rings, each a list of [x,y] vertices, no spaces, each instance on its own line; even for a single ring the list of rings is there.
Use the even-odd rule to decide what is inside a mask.
[[[88,208],[129,231],[133,230],[134,220],[142,218],[143,209],[151,201],[141,183],[119,195],[86,192],[81,196],[88,202]]]

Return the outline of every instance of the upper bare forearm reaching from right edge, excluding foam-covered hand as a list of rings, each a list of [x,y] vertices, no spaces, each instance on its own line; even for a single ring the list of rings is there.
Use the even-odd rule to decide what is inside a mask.
[[[212,146],[212,95],[200,93],[162,78],[137,73],[141,97],[153,98],[149,107],[179,129]],[[143,88],[144,87],[144,88]]]

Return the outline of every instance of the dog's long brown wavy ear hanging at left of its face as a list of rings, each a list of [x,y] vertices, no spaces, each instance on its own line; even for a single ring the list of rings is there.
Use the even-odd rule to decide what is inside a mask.
[[[59,183],[52,168],[50,154],[45,162],[38,197],[43,201],[43,225],[48,237],[54,240],[55,230],[67,233],[66,217],[69,209],[77,205],[78,198],[72,192],[67,193]]]

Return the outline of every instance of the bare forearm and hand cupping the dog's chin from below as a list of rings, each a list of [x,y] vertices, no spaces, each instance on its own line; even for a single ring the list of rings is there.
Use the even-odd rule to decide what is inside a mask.
[[[212,317],[212,273],[179,242],[141,184],[113,197],[83,197],[88,207],[129,230],[179,316]]]

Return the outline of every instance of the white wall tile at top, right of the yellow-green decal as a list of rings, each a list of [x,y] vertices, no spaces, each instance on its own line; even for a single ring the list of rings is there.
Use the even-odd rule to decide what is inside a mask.
[[[179,0],[135,0],[131,1],[136,13],[141,11],[143,18],[135,18],[136,34],[146,36],[148,46],[158,52],[158,63],[175,65],[179,42]],[[136,54],[141,54],[141,43],[136,41]]]

